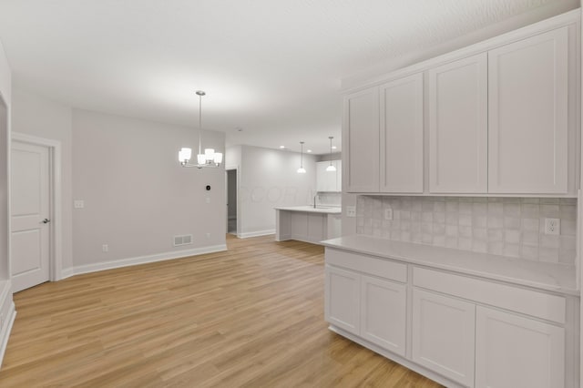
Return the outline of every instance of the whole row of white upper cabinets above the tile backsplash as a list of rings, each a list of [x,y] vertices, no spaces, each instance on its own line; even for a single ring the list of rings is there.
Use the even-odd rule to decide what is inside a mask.
[[[397,70],[346,96],[348,191],[575,197],[574,15]]]

